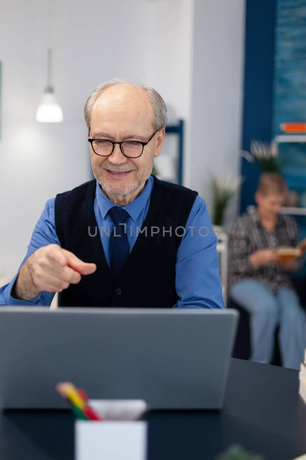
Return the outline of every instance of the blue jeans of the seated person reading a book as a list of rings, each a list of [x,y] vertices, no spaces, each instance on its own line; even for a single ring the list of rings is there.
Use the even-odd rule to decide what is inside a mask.
[[[284,287],[272,293],[261,282],[245,279],[230,288],[229,296],[250,314],[250,361],[271,362],[279,325],[283,366],[300,369],[306,347],[306,314],[297,293]]]

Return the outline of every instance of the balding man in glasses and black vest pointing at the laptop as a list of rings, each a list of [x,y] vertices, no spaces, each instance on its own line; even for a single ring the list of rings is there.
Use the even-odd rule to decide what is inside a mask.
[[[150,87],[98,86],[84,108],[95,180],[47,201],[0,304],[223,308],[205,202],[151,175],[167,108]]]

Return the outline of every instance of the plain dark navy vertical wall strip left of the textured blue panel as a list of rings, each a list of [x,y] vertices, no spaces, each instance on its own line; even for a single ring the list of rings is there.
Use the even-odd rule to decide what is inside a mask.
[[[274,78],[274,31],[276,0],[247,0],[245,14],[245,83],[242,149],[250,151],[250,141],[270,141]],[[260,168],[242,158],[240,212],[254,204]]]

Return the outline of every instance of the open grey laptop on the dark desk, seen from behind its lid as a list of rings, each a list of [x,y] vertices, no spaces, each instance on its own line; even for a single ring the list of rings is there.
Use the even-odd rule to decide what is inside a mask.
[[[0,308],[0,408],[67,408],[69,380],[92,399],[219,409],[235,310]]]

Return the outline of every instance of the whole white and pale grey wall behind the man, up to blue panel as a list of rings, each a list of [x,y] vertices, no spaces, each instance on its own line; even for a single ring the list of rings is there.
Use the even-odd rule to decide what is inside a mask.
[[[45,201],[91,178],[83,106],[111,77],[156,87],[174,109],[172,120],[184,118],[184,184],[209,202],[208,165],[237,167],[243,8],[244,0],[53,0],[53,83],[64,121],[44,124],[35,111],[46,83],[47,2],[6,2],[0,15],[6,276],[22,261]]]

